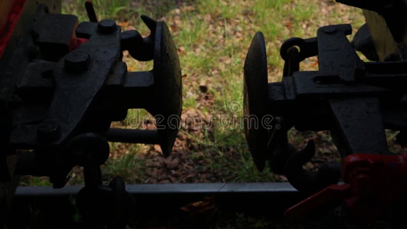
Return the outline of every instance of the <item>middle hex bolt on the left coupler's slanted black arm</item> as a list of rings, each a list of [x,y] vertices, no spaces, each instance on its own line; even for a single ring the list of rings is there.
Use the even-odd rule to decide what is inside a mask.
[[[65,56],[65,70],[71,73],[80,73],[89,69],[91,55],[82,50],[73,50]]]

